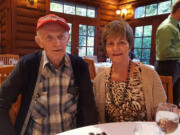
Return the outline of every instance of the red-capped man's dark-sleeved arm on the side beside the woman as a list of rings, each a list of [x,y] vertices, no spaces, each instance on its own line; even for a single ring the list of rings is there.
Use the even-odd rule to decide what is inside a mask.
[[[80,126],[96,124],[98,122],[98,114],[93,94],[92,83],[89,75],[88,64],[83,62],[80,67],[80,110],[82,122]]]

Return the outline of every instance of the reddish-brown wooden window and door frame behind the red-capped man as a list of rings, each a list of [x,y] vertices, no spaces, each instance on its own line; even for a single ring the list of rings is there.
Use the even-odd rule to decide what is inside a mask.
[[[99,5],[98,4],[89,4],[86,2],[74,2],[75,4],[88,4],[87,7],[94,7],[96,9],[96,17],[85,17],[85,16],[79,16],[79,15],[71,15],[71,14],[65,14],[60,12],[54,12],[50,11],[50,0],[47,0],[48,4],[46,7],[46,13],[53,13],[58,16],[63,17],[66,19],[68,23],[72,24],[72,36],[71,36],[71,54],[78,55],[78,49],[79,49],[79,24],[83,25],[92,25],[95,26],[94,31],[94,55],[97,55],[97,45],[98,45],[98,34],[97,34],[97,26],[98,26],[98,11],[99,11]]]

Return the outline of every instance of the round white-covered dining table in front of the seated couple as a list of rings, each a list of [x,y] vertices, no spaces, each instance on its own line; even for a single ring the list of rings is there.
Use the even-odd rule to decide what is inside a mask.
[[[141,126],[145,132],[143,135],[161,135],[160,129],[155,122],[112,122],[96,124],[72,129],[56,135],[141,135],[135,134],[137,126]],[[157,130],[160,134],[156,134]],[[180,124],[173,135],[180,135]]]

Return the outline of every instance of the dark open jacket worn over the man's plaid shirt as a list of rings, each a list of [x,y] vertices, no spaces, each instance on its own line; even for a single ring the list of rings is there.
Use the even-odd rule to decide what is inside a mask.
[[[19,135],[31,103],[42,51],[24,56],[13,72],[0,88],[0,134]],[[80,57],[69,55],[75,87],[79,99],[77,107],[77,127],[96,124],[97,111],[94,101],[92,83],[89,76],[88,65]],[[9,108],[19,94],[22,94],[21,107],[16,119],[15,128],[9,120]]]

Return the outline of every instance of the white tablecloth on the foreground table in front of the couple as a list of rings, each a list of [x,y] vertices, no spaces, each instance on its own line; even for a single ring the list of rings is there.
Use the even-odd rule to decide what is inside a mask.
[[[133,135],[134,129],[137,124],[142,124],[144,126],[156,125],[155,122],[115,122],[115,123],[105,123],[97,124],[92,126],[86,126],[82,128],[77,128],[69,130],[57,135],[89,135],[89,133],[102,133],[105,132],[107,135]],[[143,127],[144,127],[143,126]],[[146,135],[151,135],[151,131],[147,131]],[[153,134],[152,134],[153,135]],[[180,125],[173,135],[180,135]]]

